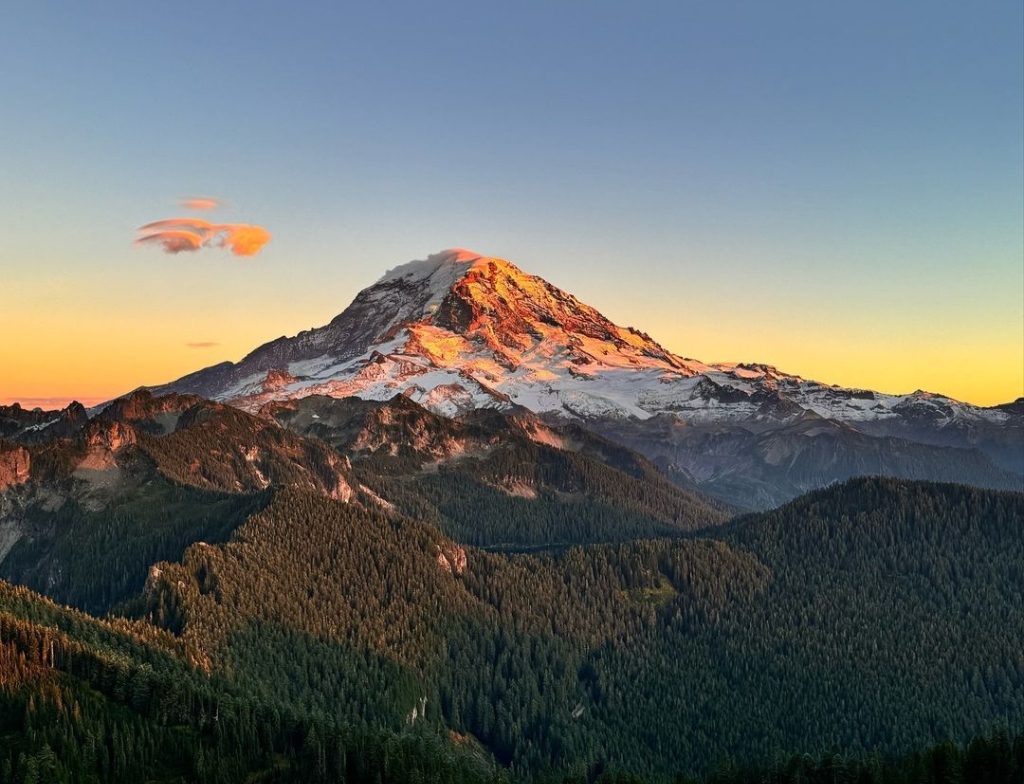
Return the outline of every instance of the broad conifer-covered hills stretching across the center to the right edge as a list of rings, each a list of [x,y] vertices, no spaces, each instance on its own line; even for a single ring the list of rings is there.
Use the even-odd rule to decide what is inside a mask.
[[[1022,520],[1016,494],[859,480],[718,540],[502,556],[289,491],[145,601],[298,706],[415,714],[519,772],[706,771],[1019,727]]]

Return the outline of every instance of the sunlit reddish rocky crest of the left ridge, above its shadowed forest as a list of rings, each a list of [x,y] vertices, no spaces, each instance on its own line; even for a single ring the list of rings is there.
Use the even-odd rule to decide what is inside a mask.
[[[13,415],[19,409],[14,406]],[[154,396],[138,390],[79,424],[79,406],[45,412],[40,431],[73,422],[66,438],[25,446],[0,440],[0,489],[28,479],[61,484],[94,507],[124,482],[159,472],[184,485],[226,492],[257,492],[270,485],[315,488],[352,499],[357,483],[348,459],[318,439],[306,439],[268,417],[255,417],[195,395]],[[8,415],[10,411],[8,411]],[[11,416],[11,419],[14,417]]]

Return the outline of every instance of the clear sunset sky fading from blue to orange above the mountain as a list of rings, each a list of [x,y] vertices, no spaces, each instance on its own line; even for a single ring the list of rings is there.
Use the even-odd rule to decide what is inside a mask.
[[[236,361],[452,247],[703,361],[1024,396],[1020,0],[12,0],[0,95],[0,403]]]

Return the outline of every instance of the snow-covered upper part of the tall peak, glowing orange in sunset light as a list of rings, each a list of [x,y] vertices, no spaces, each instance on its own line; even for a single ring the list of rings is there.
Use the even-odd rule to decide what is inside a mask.
[[[921,394],[845,390],[771,365],[707,364],[612,323],[504,259],[452,249],[388,270],[326,326],[281,338],[159,391],[257,409],[313,394],[404,394],[443,415],[521,405],[566,418],[692,423],[1006,417]],[[924,416],[924,413],[922,413]]]

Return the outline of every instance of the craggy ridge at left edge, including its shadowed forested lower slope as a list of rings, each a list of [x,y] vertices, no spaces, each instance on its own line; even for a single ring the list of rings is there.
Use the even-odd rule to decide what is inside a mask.
[[[25,466],[0,492],[0,577],[90,612],[137,594],[154,562],[225,540],[275,488],[357,495],[327,444],[197,397],[136,392],[33,439],[0,442],[0,467]]]

